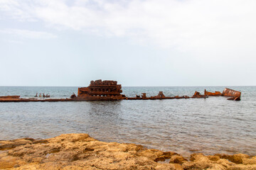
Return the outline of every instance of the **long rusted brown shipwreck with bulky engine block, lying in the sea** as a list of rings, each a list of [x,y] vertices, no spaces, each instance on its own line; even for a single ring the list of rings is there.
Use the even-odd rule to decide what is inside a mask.
[[[96,81],[90,81],[90,86],[78,88],[78,96],[72,94],[70,98],[20,98],[20,96],[0,96],[0,102],[29,102],[29,101],[117,101],[117,100],[158,100],[158,99],[180,99],[180,98],[208,98],[208,96],[228,96],[228,100],[240,101],[241,92],[234,91],[232,89],[225,88],[223,93],[220,91],[209,92],[204,91],[204,95],[201,95],[198,91],[195,91],[192,97],[189,96],[165,96],[163,91],[159,91],[156,96],[147,97],[146,93],[142,93],[142,96],[136,95],[134,98],[128,98],[122,93],[121,84],[117,84],[117,81],[101,79]],[[41,96],[41,94],[39,95]],[[45,96],[43,94],[43,96]],[[37,94],[36,96],[37,97]],[[46,97],[50,97],[46,95]]]

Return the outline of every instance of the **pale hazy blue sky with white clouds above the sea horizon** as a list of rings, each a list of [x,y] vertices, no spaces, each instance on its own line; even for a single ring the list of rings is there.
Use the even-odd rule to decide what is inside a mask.
[[[0,0],[0,86],[255,86],[255,0]]]

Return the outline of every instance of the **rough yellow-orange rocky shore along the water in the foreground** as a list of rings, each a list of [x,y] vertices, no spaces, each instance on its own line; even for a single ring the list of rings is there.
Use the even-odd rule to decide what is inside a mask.
[[[65,134],[46,140],[0,141],[0,169],[215,169],[254,170],[247,154],[191,154],[147,149],[142,145],[101,142],[87,134]]]

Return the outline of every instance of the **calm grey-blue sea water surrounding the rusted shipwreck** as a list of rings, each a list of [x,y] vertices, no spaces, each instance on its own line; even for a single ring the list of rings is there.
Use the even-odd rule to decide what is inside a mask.
[[[123,94],[192,96],[210,87],[123,87]],[[155,101],[81,101],[0,103],[0,140],[48,138],[63,133],[88,133],[106,142],[132,142],[175,151],[256,155],[256,86],[230,86],[241,101],[225,97]],[[68,98],[77,87],[0,87],[0,96],[33,97],[38,93]]]

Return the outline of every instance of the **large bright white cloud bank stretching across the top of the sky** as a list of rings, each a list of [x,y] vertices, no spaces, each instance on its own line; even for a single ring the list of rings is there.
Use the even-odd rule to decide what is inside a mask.
[[[196,52],[251,50],[254,0],[0,0],[12,18]]]

